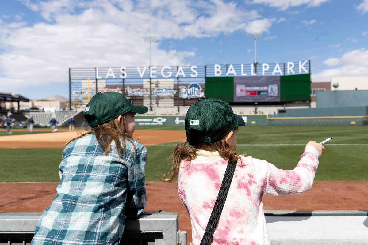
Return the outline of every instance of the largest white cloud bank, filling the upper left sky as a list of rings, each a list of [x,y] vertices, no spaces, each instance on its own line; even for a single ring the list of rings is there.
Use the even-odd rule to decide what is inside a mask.
[[[18,0],[46,21],[1,24],[1,89],[66,83],[69,67],[186,65],[193,50],[162,50],[164,39],[216,37],[235,31],[269,32],[276,19],[261,18],[224,0]],[[170,64],[167,62],[169,61]]]

